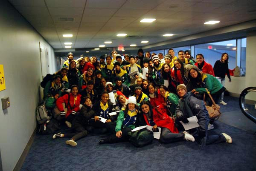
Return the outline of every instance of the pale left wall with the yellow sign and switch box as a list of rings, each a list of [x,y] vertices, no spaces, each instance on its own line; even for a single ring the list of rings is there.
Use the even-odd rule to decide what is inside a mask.
[[[0,6],[0,64],[3,64],[6,90],[11,107],[0,105],[0,153],[3,171],[11,171],[36,127],[35,107],[41,82],[39,42],[47,47],[49,72],[56,68],[51,46],[7,1]],[[0,162],[1,163],[1,162]]]

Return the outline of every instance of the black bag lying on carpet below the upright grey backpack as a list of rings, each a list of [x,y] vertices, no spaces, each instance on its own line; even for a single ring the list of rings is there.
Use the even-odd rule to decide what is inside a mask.
[[[58,121],[52,119],[52,120],[47,120],[41,125],[38,125],[37,133],[38,134],[54,134],[60,129],[61,128],[59,126]]]

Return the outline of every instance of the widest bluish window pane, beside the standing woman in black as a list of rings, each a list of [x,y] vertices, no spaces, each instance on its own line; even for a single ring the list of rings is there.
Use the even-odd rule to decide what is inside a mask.
[[[221,54],[227,53],[229,56],[229,69],[236,68],[236,40],[227,40],[215,43],[205,43],[195,45],[195,55],[203,54],[204,60],[214,66],[216,60],[221,59]]]

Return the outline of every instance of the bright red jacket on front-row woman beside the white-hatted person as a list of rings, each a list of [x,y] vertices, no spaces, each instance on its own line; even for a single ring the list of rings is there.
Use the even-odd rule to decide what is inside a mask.
[[[147,116],[145,114],[143,114],[143,116],[147,125],[150,125]],[[154,123],[157,124],[157,127],[168,128],[172,133],[179,133],[173,120],[166,114],[166,112],[161,110],[156,111],[156,109],[153,108],[153,120]]]

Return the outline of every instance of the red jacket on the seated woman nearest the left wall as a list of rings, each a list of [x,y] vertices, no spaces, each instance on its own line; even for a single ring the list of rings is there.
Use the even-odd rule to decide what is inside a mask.
[[[70,95],[70,105],[72,109],[70,108],[70,105],[67,104],[68,95]],[[65,115],[66,118],[68,117],[68,115],[71,114],[72,111],[76,111],[76,112],[79,111],[79,105],[80,105],[81,99],[80,99],[80,96],[76,96],[76,97],[77,97],[77,100],[75,104],[74,104],[74,95],[72,93],[65,94],[64,96],[61,96],[60,98],[58,98],[58,100],[56,101],[56,106],[60,111],[64,111],[62,103],[65,103],[65,106],[67,107],[67,114]]]

